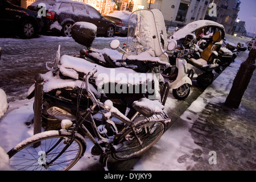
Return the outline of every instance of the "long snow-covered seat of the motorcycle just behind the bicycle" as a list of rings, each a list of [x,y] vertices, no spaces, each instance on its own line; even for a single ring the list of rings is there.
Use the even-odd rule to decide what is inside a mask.
[[[155,76],[152,73],[138,73],[133,69],[124,67],[105,68],[79,57],[68,55],[61,56],[59,68],[63,75],[75,78],[76,80],[79,79],[79,73],[86,75],[96,68],[97,72],[94,74],[94,80],[97,86],[108,83],[140,85],[155,80]]]

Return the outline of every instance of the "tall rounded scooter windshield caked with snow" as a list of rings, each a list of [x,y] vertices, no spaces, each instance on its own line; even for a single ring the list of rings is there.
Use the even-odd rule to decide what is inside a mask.
[[[160,60],[168,62],[168,56],[164,55],[161,32],[158,30],[159,22],[156,23],[160,11],[137,10],[129,18],[129,30],[127,34],[126,52],[130,55],[139,55],[148,52],[151,56],[161,57]],[[162,16],[162,13],[160,13]],[[160,22],[164,26],[164,22]]]

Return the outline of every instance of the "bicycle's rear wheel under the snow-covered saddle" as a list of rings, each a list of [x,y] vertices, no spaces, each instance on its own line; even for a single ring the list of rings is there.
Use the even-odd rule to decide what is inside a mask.
[[[134,128],[141,144],[139,144],[133,131],[128,129],[122,135],[122,140],[114,146],[115,152],[112,153],[114,159],[126,160],[141,155],[160,139],[164,133],[165,125],[161,121],[142,121],[136,123]]]

